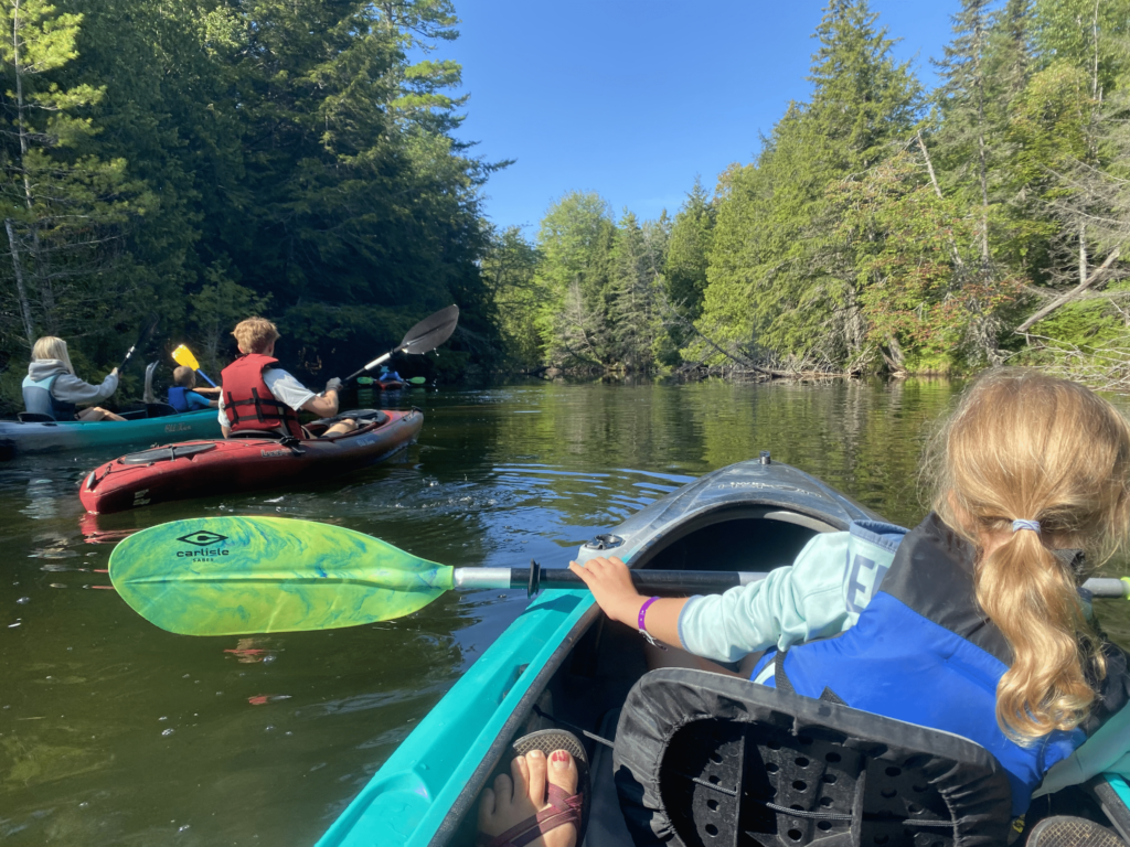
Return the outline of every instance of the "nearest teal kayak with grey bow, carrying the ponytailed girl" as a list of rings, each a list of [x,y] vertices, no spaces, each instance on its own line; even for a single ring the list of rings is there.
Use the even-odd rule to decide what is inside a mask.
[[[760,461],[715,471],[671,492],[583,544],[576,558],[618,556],[633,568],[694,569],[704,562],[711,570],[762,569],[790,564],[817,533],[843,531],[860,519],[883,518],[820,480],[771,462],[765,454]],[[762,565],[750,568],[751,560]],[[515,736],[557,726],[577,735],[591,732],[609,739],[617,734],[615,716],[628,690],[634,684],[638,688],[646,673],[641,645],[633,630],[608,625],[586,591],[544,592],[384,762],[319,840],[319,847],[472,842],[478,797],[507,758]],[[601,748],[594,749],[601,756]],[[610,761],[603,766],[609,781]],[[593,766],[594,772],[599,767]],[[1130,789],[1116,776],[1102,781],[1102,805],[1112,824],[1130,828]],[[910,784],[905,787],[911,789]],[[925,789],[914,786],[913,791]],[[616,822],[620,817],[616,794],[607,783],[605,787],[593,783],[593,818],[600,823],[597,807],[610,805],[612,812],[606,820],[611,820],[611,829],[590,820],[586,847],[632,842],[626,832],[615,830],[623,826]],[[824,824],[831,827],[831,822]],[[886,842],[883,838],[876,842]],[[684,841],[673,838],[670,842]]]

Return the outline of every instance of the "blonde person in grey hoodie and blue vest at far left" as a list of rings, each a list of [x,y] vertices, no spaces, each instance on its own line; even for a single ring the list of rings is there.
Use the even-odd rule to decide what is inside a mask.
[[[32,361],[24,377],[24,407],[28,412],[46,414],[52,420],[125,420],[120,414],[92,405],[118,391],[118,368],[101,385],[90,385],[75,376],[67,342],[44,335],[32,347]],[[79,411],[78,405],[89,408]]]

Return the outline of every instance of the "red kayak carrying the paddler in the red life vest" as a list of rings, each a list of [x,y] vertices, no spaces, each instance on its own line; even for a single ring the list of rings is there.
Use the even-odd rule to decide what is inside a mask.
[[[86,510],[108,514],[154,503],[308,482],[380,462],[416,440],[424,414],[365,409],[345,412],[360,425],[329,438],[282,442],[252,437],[185,442],[115,459],[90,471],[79,496]],[[336,419],[311,424],[324,433]]]

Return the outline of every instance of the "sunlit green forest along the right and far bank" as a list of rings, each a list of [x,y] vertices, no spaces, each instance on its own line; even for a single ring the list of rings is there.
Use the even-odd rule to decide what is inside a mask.
[[[932,91],[866,0],[816,36],[809,102],[673,218],[570,193],[493,235],[508,355],[1130,385],[1130,2],[963,0]]]

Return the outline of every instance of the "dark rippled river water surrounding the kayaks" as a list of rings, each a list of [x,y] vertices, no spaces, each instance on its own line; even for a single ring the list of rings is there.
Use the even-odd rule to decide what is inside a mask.
[[[525,603],[521,592],[449,594],[351,629],[176,636],[107,590],[113,544],[133,530],[282,515],[445,565],[562,567],[598,531],[762,449],[913,525],[923,439],[955,390],[533,382],[415,392],[383,399],[425,411],[419,443],[383,465],[233,497],[217,479],[210,499],[96,521],[84,518],[78,483],[120,451],[2,465],[0,840],[311,845]],[[1104,602],[1099,615],[1130,644],[1130,612]]]

